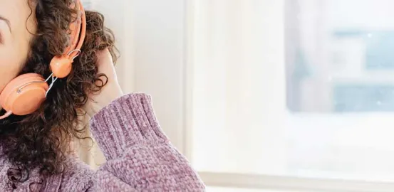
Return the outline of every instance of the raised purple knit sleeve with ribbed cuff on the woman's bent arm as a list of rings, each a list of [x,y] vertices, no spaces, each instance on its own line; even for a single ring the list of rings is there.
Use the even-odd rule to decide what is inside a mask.
[[[151,97],[118,98],[90,119],[107,162],[95,173],[93,191],[204,191],[196,171],[162,132]]]

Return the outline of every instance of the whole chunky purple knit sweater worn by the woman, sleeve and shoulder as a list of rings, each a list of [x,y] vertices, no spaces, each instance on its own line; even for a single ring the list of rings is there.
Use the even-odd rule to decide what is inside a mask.
[[[28,181],[12,189],[6,176],[11,164],[0,154],[0,191],[204,191],[185,156],[160,129],[151,102],[145,94],[125,95],[90,120],[107,159],[98,171],[70,158],[66,173],[43,178],[33,170]]]

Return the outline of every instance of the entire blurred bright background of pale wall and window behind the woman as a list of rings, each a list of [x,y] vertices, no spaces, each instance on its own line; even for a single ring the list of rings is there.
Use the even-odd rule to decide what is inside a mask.
[[[212,192],[394,191],[391,0],[85,0]],[[93,168],[94,146],[81,156]]]

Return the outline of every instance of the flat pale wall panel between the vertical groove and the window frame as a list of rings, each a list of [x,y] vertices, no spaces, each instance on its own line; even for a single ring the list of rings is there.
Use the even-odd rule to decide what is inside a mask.
[[[152,95],[162,128],[181,151],[185,1],[135,1],[134,90]]]

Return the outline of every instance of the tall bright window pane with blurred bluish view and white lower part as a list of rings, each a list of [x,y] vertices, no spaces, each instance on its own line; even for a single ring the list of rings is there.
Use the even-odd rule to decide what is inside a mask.
[[[304,119],[286,127],[289,170],[297,176],[394,181],[394,23],[386,9],[393,2],[291,4],[286,102],[295,119]]]

